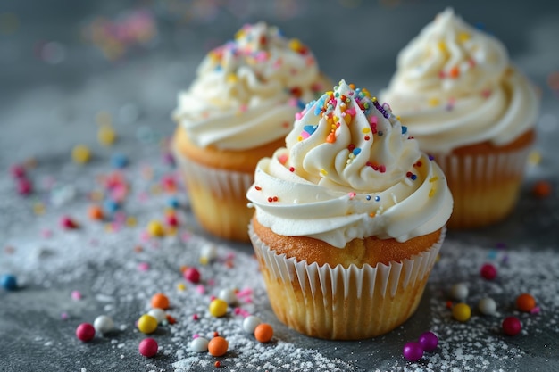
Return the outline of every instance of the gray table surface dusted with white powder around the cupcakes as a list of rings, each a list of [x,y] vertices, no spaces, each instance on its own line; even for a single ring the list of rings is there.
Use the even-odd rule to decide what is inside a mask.
[[[513,3],[513,4],[511,4]],[[218,4],[220,4],[218,6]],[[0,274],[18,277],[17,291],[0,289],[0,370],[2,371],[315,371],[315,370],[559,370],[559,5],[556,2],[480,2],[455,4],[466,21],[499,37],[512,61],[533,79],[542,94],[536,152],[528,165],[521,200],[502,223],[467,232],[449,232],[441,260],[433,270],[416,314],[388,335],[356,342],[330,342],[298,335],[274,317],[248,244],[230,244],[207,236],[188,211],[188,195],[176,236],[146,239],[152,219],[163,219],[170,194],[162,180],[175,169],[163,161],[162,143],[174,128],[170,112],[179,89],[188,87],[205,52],[229,39],[245,22],[269,21],[288,37],[309,45],[332,79],[346,79],[371,92],[385,87],[396,53],[437,12],[441,1],[153,1],[153,2],[7,2],[0,5]],[[124,25],[139,10],[156,32],[145,44],[127,42],[118,58],[107,58],[85,32],[104,20]],[[506,12],[504,11],[506,10]],[[149,23],[142,23],[146,29]],[[110,40],[109,40],[110,41]],[[105,40],[104,47],[107,47]],[[554,79],[555,77],[555,79]],[[107,112],[118,133],[112,147],[96,140],[96,117]],[[71,161],[71,148],[88,145],[93,160]],[[88,220],[92,195],[103,191],[114,153],[129,157],[122,170],[130,194],[122,206],[136,226]],[[15,192],[8,169],[35,162],[28,169],[35,191]],[[552,186],[540,199],[532,194],[539,180]],[[42,211],[42,213],[39,213]],[[64,215],[79,229],[63,231]],[[113,229],[114,229],[113,228]],[[200,265],[205,245],[217,260]],[[138,250],[138,246],[142,250]],[[495,281],[480,277],[492,262]],[[184,281],[180,266],[196,265],[205,293]],[[470,288],[473,310],[465,323],[446,308],[455,283]],[[178,285],[186,285],[184,291]],[[240,307],[274,327],[271,343],[254,341],[240,329],[242,317],[208,315],[210,296],[237,287],[253,291]],[[72,298],[78,291],[81,299]],[[153,337],[160,350],[153,359],[138,354],[145,337],[134,322],[156,292],[171,299],[174,325]],[[514,298],[532,293],[538,314],[514,309]],[[491,296],[494,317],[475,310]],[[200,319],[193,320],[193,314]],[[107,314],[116,328],[81,343],[74,330]],[[523,331],[503,335],[500,321],[521,318]],[[438,349],[416,363],[402,357],[402,347],[432,330]],[[229,339],[221,358],[188,350],[195,334],[218,331]]]

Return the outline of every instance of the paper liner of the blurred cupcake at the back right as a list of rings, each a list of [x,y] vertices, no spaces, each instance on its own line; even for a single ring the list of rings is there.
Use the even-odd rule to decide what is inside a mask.
[[[503,153],[435,154],[455,201],[449,228],[482,227],[513,211],[530,147]]]

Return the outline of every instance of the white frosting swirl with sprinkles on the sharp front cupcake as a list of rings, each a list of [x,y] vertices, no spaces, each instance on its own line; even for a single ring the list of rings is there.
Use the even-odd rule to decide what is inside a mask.
[[[338,248],[429,234],[453,205],[444,174],[388,105],[344,80],[296,114],[286,147],[258,163],[246,196],[274,233]]]

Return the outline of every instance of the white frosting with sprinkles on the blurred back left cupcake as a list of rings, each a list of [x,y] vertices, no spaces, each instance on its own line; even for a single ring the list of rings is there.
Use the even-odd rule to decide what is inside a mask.
[[[247,24],[205,56],[172,117],[200,147],[253,148],[286,136],[322,81],[307,46],[264,22]]]

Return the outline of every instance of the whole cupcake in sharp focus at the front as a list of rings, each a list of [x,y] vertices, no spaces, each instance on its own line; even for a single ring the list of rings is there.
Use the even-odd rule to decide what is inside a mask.
[[[412,316],[452,196],[387,105],[340,81],[258,162],[249,235],[271,308],[313,337],[382,335]]]

